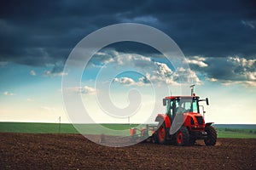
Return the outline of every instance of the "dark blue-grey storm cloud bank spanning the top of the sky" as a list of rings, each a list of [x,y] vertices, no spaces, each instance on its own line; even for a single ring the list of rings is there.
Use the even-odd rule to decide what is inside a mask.
[[[253,58],[255,7],[254,1],[2,1],[0,60],[25,65],[65,62],[83,37],[120,22],[165,31],[186,56]]]

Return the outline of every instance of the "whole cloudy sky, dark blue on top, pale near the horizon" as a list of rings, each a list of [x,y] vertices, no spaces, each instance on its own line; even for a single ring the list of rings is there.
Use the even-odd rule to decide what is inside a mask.
[[[165,112],[161,101],[154,100],[155,91],[166,84],[166,95],[180,94],[178,75],[185,74],[195,93],[210,100],[210,105],[202,104],[207,122],[255,124],[255,7],[253,0],[2,1],[0,121],[59,122],[61,116],[61,122],[72,122],[61,89],[62,77],[71,74],[64,70],[69,54],[93,31],[137,23],[172,37],[190,70],[175,69],[145,44],[118,42],[102,48],[86,66],[81,86],[70,88],[81,95],[96,122],[127,122],[127,116],[130,122],[152,121]],[[142,94],[138,111],[113,117],[99,105],[101,95],[110,94],[113,105],[125,108],[138,99],[134,89]]]

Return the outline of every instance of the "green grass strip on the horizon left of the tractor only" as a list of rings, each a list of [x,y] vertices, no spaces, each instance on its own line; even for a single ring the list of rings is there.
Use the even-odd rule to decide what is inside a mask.
[[[3,133],[86,133],[129,135],[130,127],[137,124],[73,124],[67,123],[38,123],[38,122],[0,122],[0,132]],[[79,129],[79,131],[77,130]]]

